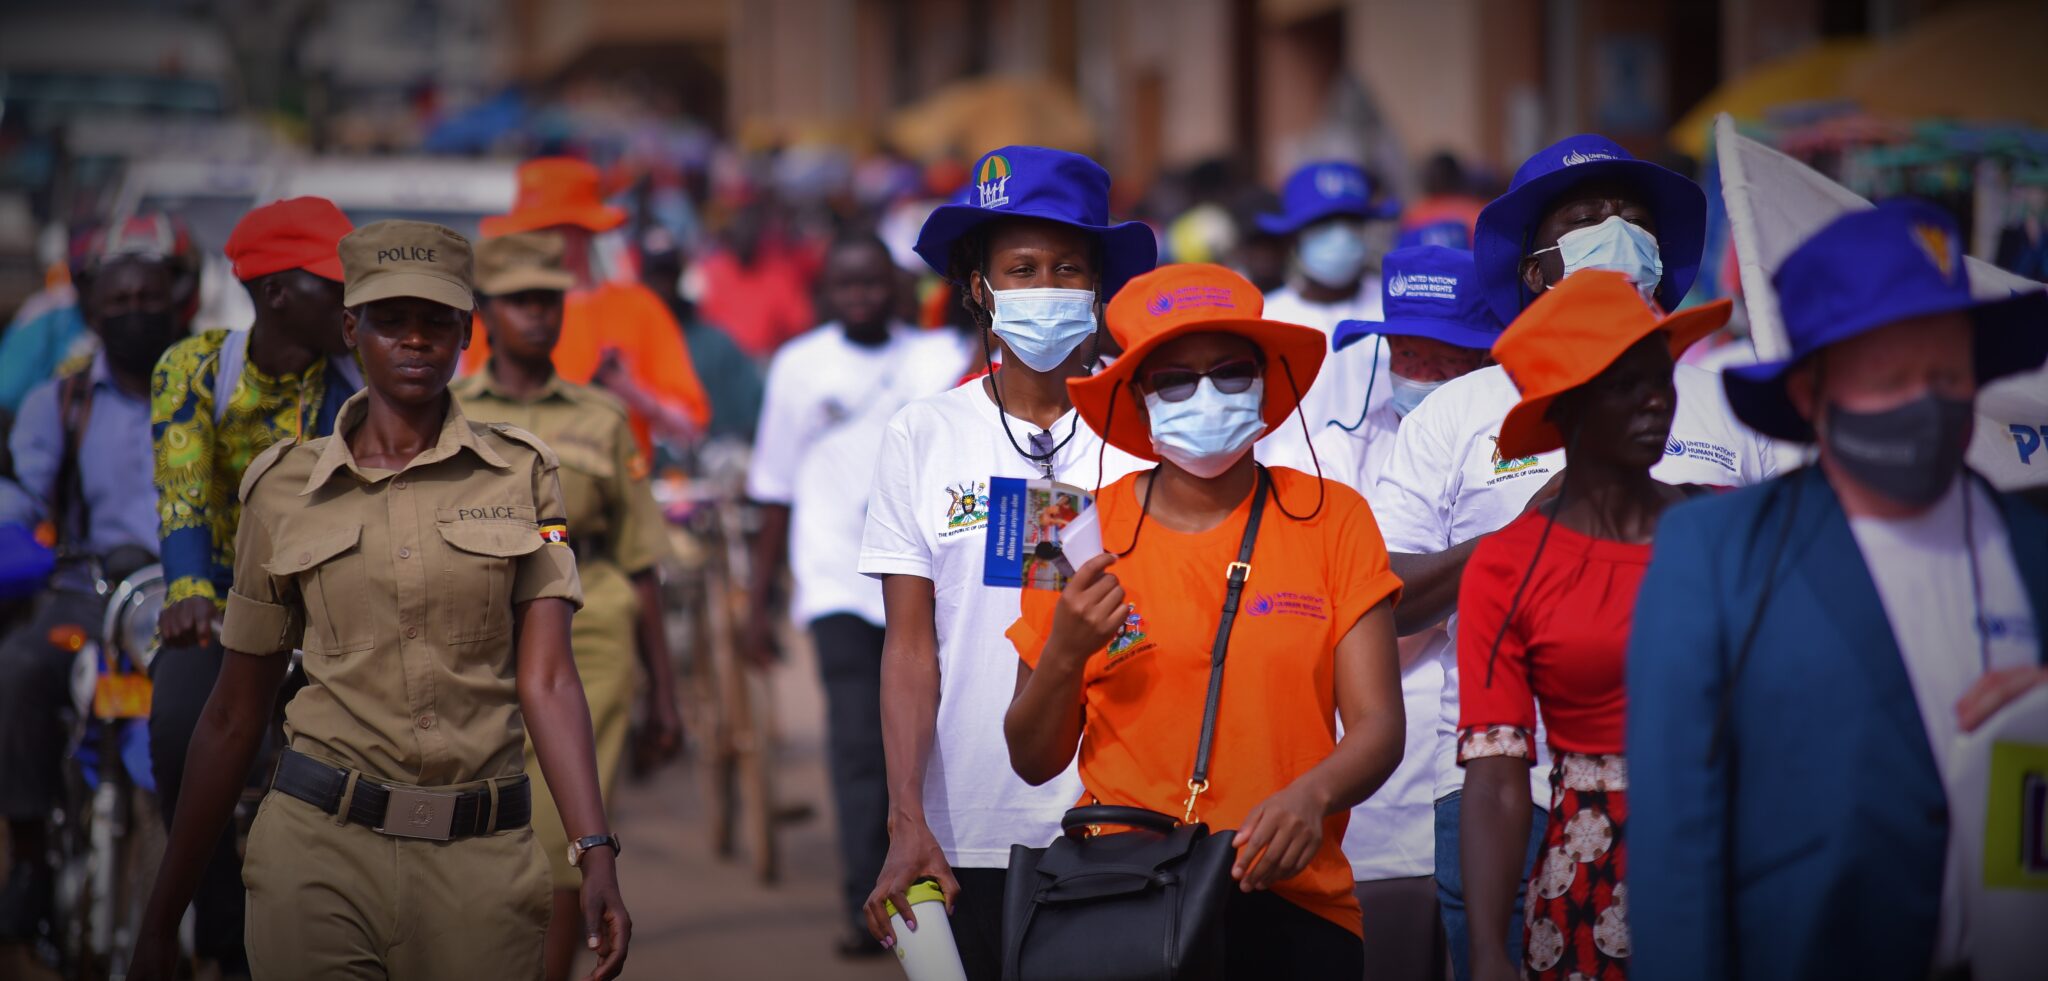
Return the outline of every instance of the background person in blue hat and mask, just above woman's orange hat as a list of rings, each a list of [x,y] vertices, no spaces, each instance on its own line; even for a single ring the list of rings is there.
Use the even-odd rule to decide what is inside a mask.
[[[1380,276],[1368,227],[1393,221],[1397,211],[1391,201],[1374,201],[1372,190],[1358,164],[1337,160],[1305,164],[1286,178],[1280,213],[1257,217],[1260,231],[1294,242],[1294,276],[1266,295],[1268,317],[1331,336],[1346,319],[1380,319]],[[1386,397],[1386,346],[1374,340],[1346,352],[1331,348],[1323,373],[1300,399],[1300,414],[1311,434],[1331,422],[1356,428],[1366,410]],[[1288,426],[1262,440],[1255,453],[1262,461],[1307,459],[1307,436]]]

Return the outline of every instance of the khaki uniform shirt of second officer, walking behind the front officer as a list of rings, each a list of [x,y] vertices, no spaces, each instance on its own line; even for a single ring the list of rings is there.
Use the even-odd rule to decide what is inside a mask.
[[[530,397],[508,395],[489,369],[449,387],[479,422],[510,422],[561,459],[561,500],[573,532],[575,563],[590,580],[594,563],[635,575],[668,557],[668,526],[647,483],[647,455],[633,438],[625,403],[555,375]],[[590,584],[586,582],[586,588]]]

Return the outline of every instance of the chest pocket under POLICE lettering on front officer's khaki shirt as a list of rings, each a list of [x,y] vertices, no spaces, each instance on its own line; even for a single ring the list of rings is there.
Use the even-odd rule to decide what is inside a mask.
[[[541,524],[530,506],[436,508],[434,524],[449,543],[440,588],[449,643],[477,643],[512,631],[512,582],[518,561],[541,549]]]

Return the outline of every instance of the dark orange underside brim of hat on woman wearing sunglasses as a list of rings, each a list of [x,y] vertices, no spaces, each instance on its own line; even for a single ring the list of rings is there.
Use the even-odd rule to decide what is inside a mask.
[[[1157,463],[1159,453],[1151,446],[1151,426],[1139,416],[1135,403],[1122,401],[1118,406],[1118,399],[1133,399],[1133,381],[1151,352],[1190,334],[1235,334],[1260,346],[1266,356],[1266,406],[1262,406],[1266,434],[1278,430],[1294,414],[1303,393],[1315,385],[1317,373],[1323,371],[1323,358],[1329,356],[1329,338],[1321,330],[1300,324],[1243,317],[1176,324],[1133,344],[1100,373],[1067,379],[1067,395],[1073,399],[1075,412],[1081,414],[1081,422],[1100,432],[1110,446]],[[1292,385],[1288,377],[1292,377]]]

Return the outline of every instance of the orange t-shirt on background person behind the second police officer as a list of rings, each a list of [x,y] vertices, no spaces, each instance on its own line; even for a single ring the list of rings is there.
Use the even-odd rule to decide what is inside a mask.
[[[696,428],[711,422],[711,397],[690,365],[690,348],[668,303],[639,283],[604,283],[596,289],[571,291],[561,311],[561,340],[555,342],[555,373],[578,385],[588,385],[606,350],[618,352],[618,362],[635,385],[664,408],[688,418]],[[477,330],[463,352],[463,375],[483,369],[492,354],[489,336]],[[633,414],[633,434],[641,451],[651,451],[647,420]]]

